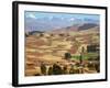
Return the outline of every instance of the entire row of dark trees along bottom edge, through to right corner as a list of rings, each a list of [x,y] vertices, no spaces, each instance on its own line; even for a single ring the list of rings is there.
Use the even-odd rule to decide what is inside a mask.
[[[53,64],[53,66],[50,66],[48,70],[46,68],[45,64],[41,65],[41,74],[35,74],[34,76],[41,76],[41,75],[67,75],[67,74],[82,74],[84,73],[84,68],[85,66],[81,66],[80,64],[78,65],[69,65],[69,68],[67,65],[65,66],[61,66],[58,63]],[[96,70],[97,73],[100,72],[100,65],[99,63],[88,63],[87,67],[89,68],[89,70]]]

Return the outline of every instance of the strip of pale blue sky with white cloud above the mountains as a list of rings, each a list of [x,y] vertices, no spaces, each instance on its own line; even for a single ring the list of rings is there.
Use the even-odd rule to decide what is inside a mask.
[[[92,19],[99,20],[98,14],[79,14],[79,13],[52,13],[52,12],[34,12],[34,11],[25,11],[25,18],[32,19],[43,19],[43,18],[59,18],[59,19]]]

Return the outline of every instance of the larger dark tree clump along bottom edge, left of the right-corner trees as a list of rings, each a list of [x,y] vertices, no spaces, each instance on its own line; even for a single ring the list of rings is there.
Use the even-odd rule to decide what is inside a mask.
[[[66,74],[79,74],[79,69],[75,69],[73,66],[70,66],[70,68],[68,68],[66,65],[64,67],[62,67],[61,65],[58,65],[57,63],[54,64],[53,66],[51,66],[48,68],[46,68],[46,65],[41,65],[41,74],[35,74],[35,76],[40,76],[40,75],[66,75]]]

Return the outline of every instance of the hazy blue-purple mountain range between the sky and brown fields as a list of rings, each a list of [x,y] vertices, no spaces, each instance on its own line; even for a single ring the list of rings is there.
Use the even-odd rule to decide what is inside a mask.
[[[59,18],[53,18],[53,19],[31,19],[26,18],[24,22],[25,31],[53,31],[53,30],[63,30],[63,29],[72,29],[72,30],[86,30],[89,28],[94,28],[98,25],[97,20],[92,19],[59,19]]]

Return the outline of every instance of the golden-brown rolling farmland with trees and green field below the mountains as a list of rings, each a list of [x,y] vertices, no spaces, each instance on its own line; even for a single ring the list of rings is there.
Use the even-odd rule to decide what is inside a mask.
[[[73,29],[26,34],[25,76],[99,73],[99,28]]]

